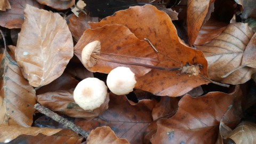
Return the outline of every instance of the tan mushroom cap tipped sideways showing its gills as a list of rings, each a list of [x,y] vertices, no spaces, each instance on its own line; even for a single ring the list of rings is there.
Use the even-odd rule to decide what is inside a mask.
[[[82,51],[82,63],[86,68],[91,68],[97,63],[98,59],[93,58],[91,55],[92,53],[100,55],[100,49],[100,41],[93,41],[84,47]]]

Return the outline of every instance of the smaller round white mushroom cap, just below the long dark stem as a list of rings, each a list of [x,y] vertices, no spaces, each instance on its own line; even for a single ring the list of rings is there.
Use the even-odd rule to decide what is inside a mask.
[[[135,75],[130,68],[117,67],[111,70],[107,77],[109,90],[117,95],[133,91],[135,84]]]

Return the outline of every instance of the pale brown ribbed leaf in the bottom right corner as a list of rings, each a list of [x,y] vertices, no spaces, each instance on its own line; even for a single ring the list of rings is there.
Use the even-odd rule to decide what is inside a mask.
[[[253,144],[256,143],[255,137],[256,124],[243,121],[225,139],[232,139],[235,143]]]

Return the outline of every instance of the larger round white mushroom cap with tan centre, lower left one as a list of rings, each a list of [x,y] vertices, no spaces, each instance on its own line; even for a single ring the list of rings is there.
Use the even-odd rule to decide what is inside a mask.
[[[93,110],[101,106],[107,96],[108,87],[98,78],[85,78],[74,90],[74,100],[84,110]]]

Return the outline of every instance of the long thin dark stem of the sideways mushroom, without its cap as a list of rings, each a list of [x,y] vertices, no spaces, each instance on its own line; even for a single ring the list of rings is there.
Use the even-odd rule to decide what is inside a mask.
[[[148,68],[159,69],[159,70],[175,71],[175,70],[180,70],[181,69],[181,68],[163,68],[163,67],[157,67],[157,66],[147,65],[147,64],[143,64],[143,63],[135,63],[135,62],[117,61],[117,60],[112,60],[112,59],[107,59],[107,58],[100,57],[100,55],[97,55],[97,54],[94,54],[94,53],[91,54],[91,57],[101,59],[101,60],[104,60],[104,61],[108,61],[108,62],[119,63],[119,64],[123,64],[123,65],[141,66],[141,67],[148,67]]]

